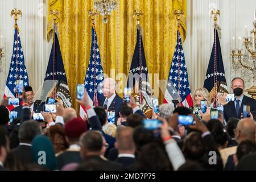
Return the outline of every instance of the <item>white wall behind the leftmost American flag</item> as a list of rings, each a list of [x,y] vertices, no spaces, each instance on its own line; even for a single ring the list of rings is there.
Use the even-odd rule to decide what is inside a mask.
[[[34,93],[40,91],[46,73],[51,43],[46,42],[46,16],[39,16],[46,0],[0,0],[0,36],[5,38],[5,57],[2,60],[3,71],[0,73],[0,98],[5,90],[14,42],[14,16],[11,10],[16,7],[22,11],[18,16],[18,27],[22,43],[25,64],[30,85]],[[46,11],[47,12],[47,11]],[[37,99],[38,94],[36,94]]]

